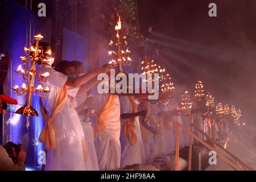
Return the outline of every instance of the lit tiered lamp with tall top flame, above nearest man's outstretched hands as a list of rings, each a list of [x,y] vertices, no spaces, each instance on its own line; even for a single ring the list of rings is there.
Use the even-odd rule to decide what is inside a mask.
[[[127,37],[121,35],[121,28],[121,17],[119,16],[117,25],[115,26],[115,31],[117,31],[117,34],[114,41],[110,40],[109,43],[109,46],[111,48],[111,50],[109,51],[109,56],[111,57],[109,64],[112,68],[117,68],[117,66],[119,65],[120,72],[122,72],[122,65],[131,65],[131,52],[127,47]]]

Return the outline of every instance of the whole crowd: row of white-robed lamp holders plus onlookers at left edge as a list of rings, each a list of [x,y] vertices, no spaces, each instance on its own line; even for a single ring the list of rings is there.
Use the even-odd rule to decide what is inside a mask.
[[[46,53],[51,49],[44,42],[39,46]],[[40,71],[48,72],[50,77],[40,84],[48,86],[50,92],[40,100],[45,125],[39,137],[47,150],[45,170],[154,166],[154,159],[174,154],[176,122],[187,128],[193,122],[221,143],[229,139],[228,119],[209,115],[205,107],[200,107],[203,102],[195,102],[189,117],[180,111],[179,103],[168,96],[148,100],[141,94],[121,96],[96,92],[88,97],[87,93],[100,82],[97,75],[110,73],[109,65],[84,73],[79,61],[59,61],[53,68],[54,54],[45,56],[48,65]],[[97,116],[91,122],[88,117],[92,108]],[[1,103],[1,113],[3,109]],[[187,133],[180,133],[180,148],[188,146],[188,138]],[[25,158],[22,145],[0,146],[0,170],[24,170]]]

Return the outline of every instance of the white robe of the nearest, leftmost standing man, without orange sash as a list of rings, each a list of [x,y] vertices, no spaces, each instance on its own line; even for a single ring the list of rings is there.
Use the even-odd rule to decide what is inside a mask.
[[[41,71],[42,73],[49,72],[51,75],[46,82],[42,82],[43,87],[47,85],[51,91],[45,98],[42,98],[47,114],[51,115],[57,89],[63,88],[68,77],[51,67],[42,68]],[[56,148],[47,151],[46,170],[87,170],[82,150],[84,131],[82,131],[79,116],[69,100],[56,115],[53,125]]]

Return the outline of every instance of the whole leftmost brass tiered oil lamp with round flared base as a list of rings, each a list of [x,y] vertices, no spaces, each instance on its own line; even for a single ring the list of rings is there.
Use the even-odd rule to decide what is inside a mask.
[[[23,82],[22,86],[15,85],[14,93],[16,96],[27,96],[26,105],[20,107],[16,110],[16,114],[26,115],[28,117],[38,117],[38,111],[32,107],[32,96],[46,97],[49,93],[49,88],[43,88],[42,85],[35,86],[35,77],[38,76],[38,81],[45,82],[50,76],[48,72],[41,73],[36,70],[36,63],[40,62],[42,67],[46,67],[48,60],[44,55],[51,55],[51,50],[43,52],[43,48],[39,46],[40,40],[43,39],[42,35],[34,36],[35,46],[30,46],[30,48],[24,47],[25,56],[20,57],[22,64],[19,65],[18,69],[15,71],[19,78],[23,78],[24,81],[28,81],[28,85]],[[25,69],[23,67],[27,66]]]

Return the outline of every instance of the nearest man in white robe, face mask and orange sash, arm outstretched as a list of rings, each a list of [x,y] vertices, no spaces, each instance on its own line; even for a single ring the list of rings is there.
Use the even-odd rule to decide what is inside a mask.
[[[39,46],[43,48],[43,52],[51,49],[47,43],[40,42]],[[89,156],[85,136],[79,116],[72,107],[71,100],[68,99],[67,86],[79,88],[99,73],[108,73],[109,69],[101,67],[86,75],[73,78],[71,76],[73,68],[67,71],[68,77],[52,68],[53,53],[44,56],[49,60],[49,65],[41,68],[40,71],[48,72],[50,77],[41,84],[44,88],[48,86],[50,92],[42,98],[40,104],[46,125],[39,141],[43,142],[47,149],[46,170],[88,170],[86,160]]]

